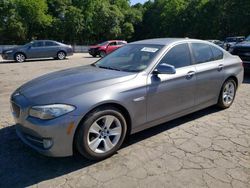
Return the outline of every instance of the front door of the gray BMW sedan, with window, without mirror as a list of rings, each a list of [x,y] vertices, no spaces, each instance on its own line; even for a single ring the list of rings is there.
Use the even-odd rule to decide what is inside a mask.
[[[164,63],[173,65],[176,73],[149,75],[148,121],[180,113],[195,104],[195,65],[192,64],[188,44],[183,43],[172,47],[159,62],[159,64]]]

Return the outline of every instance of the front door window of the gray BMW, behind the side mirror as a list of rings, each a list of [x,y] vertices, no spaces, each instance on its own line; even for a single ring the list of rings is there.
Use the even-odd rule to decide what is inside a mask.
[[[170,64],[175,68],[181,68],[191,65],[191,57],[188,44],[178,44],[171,48],[161,59],[159,64]]]

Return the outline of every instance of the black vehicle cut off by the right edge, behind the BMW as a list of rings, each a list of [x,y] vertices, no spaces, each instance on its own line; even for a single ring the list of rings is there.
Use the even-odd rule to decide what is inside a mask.
[[[229,48],[229,52],[243,61],[244,69],[250,72],[250,35],[241,43]]]

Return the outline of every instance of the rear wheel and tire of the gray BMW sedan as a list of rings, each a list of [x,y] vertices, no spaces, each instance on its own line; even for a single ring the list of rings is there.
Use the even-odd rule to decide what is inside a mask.
[[[228,79],[224,82],[221,88],[217,106],[222,109],[229,108],[234,101],[237,86],[233,79]]]

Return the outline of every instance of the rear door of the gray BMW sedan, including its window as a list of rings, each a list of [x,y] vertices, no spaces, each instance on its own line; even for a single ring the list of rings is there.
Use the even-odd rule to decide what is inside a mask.
[[[206,43],[191,43],[195,61],[196,105],[216,102],[224,80],[223,52]]]

